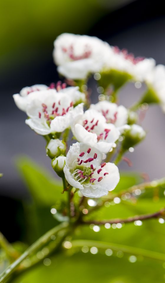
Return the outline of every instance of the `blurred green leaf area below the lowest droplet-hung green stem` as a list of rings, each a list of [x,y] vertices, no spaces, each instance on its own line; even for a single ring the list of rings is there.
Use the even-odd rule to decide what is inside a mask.
[[[105,250],[99,249],[98,254],[84,254],[75,249],[56,257],[50,257],[51,264],[43,263],[22,274],[13,283],[162,283],[164,282],[164,269],[162,262],[137,257],[137,261],[128,261],[130,255],[114,253],[108,257]],[[123,257],[122,257],[123,256]],[[121,257],[121,258],[120,258]],[[45,261],[46,263],[46,261]],[[50,262],[49,262],[50,263]]]

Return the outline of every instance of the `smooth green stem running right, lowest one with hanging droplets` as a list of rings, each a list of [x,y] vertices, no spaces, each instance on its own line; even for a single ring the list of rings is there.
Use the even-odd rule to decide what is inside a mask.
[[[148,251],[145,249],[139,249],[136,247],[129,247],[120,244],[113,244],[100,241],[92,240],[74,240],[72,241],[72,247],[97,247],[98,249],[112,249],[113,251],[122,251],[128,254],[133,254],[137,256],[143,256],[151,259],[165,261],[165,254],[159,252]]]

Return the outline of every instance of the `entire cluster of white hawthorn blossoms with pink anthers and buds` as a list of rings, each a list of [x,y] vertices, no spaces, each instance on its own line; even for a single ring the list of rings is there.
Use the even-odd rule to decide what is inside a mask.
[[[139,105],[159,103],[165,109],[165,67],[96,37],[74,34],[57,37],[53,58],[66,81],[25,87],[14,101],[27,114],[26,124],[45,137],[46,153],[64,190],[102,197],[119,182],[116,165],[123,154],[146,135],[136,124]],[[92,74],[102,94],[96,104],[90,103],[87,85]],[[146,83],[147,90],[136,107],[127,109],[118,105],[117,92],[130,80]]]

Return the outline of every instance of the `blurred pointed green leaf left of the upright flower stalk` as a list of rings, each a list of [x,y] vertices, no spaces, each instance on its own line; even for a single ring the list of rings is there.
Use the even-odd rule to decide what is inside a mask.
[[[67,194],[61,194],[62,182],[32,159],[19,157],[16,165],[32,197],[31,200],[23,201],[26,234],[30,244],[58,223],[53,219],[50,209],[56,202],[60,206]]]

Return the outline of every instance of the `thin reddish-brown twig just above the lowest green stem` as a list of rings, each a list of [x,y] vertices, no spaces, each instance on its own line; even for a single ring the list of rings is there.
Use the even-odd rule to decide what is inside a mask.
[[[158,212],[155,213],[151,213],[151,214],[146,214],[146,215],[136,215],[133,217],[128,217],[126,219],[111,219],[111,220],[100,220],[100,221],[96,221],[96,220],[89,220],[89,221],[84,221],[81,220],[82,224],[96,224],[96,225],[104,225],[105,223],[109,223],[109,224],[117,224],[117,223],[130,223],[130,222],[134,222],[136,220],[147,220],[147,219],[151,219],[151,218],[158,218],[158,217],[164,217],[165,216],[165,208],[161,209]]]

